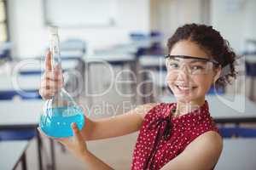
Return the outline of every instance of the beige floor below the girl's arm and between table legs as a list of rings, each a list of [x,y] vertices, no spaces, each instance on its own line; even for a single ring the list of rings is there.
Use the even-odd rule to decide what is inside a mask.
[[[132,150],[136,139],[137,133],[131,133],[119,138],[90,141],[87,143],[87,147],[93,154],[102,159],[102,161],[108,163],[108,165],[110,165],[114,169],[128,170],[131,167]],[[49,146],[47,139],[44,139],[44,145],[46,145],[47,147],[46,149],[44,148],[43,151],[44,168],[47,169],[47,165],[50,164]],[[36,140],[33,140],[28,150],[26,151],[26,161],[28,169],[38,169],[38,156],[36,149]],[[61,150],[61,145],[57,143],[55,143],[55,154],[56,169],[86,169],[82,162],[77,160],[67,150],[63,152]],[[17,169],[20,169],[20,167],[18,167]]]

